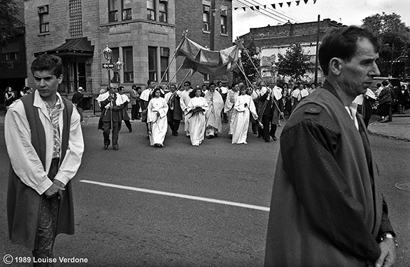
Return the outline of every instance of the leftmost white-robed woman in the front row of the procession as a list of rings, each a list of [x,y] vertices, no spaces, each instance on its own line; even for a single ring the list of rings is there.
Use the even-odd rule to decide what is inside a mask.
[[[162,97],[161,89],[154,89],[147,108],[149,143],[154,147],[164,146],[164,139],[168,129],[167,112],[168,104]]]

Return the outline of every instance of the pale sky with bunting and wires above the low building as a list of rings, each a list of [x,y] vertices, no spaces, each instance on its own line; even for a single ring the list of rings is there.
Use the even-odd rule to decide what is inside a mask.
[[[291,1],[290,6],[286,4],[289,1]],[[279,7],[278,3],[283,3],[283,7]],[[272,9],[271,4],[275,4],[276,9]],[[252,11],[248,7],[246,11],[241,8],[252,5],[261,6],[261,10],[263,5],[266,5],[267,8],[269,7],[268,11],[272,13],[274,10],[278,11],[281,16],[293,19],[293,22],[317,21],[317,15],[320,15],[320,20],[331,19],[347,26],[360,26],[362,19],[374,14],[382,14],[384,11],[386,14],[399,14],[401,21],[410,27],[410,0],[317,0],[315,4],[313,0],[308,0],[307,4],[301,0],[299,6],[296,6],[295,0],[232,0],[233,40],[237,36],[248,33],[250,28],[276,26],[288,20],[286,18],[286,21],[283,19],[278,21]],[[239,9],[235,10],[236,7]]]

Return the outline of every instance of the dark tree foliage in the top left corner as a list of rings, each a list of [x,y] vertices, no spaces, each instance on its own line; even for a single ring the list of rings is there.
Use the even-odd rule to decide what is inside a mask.
[[[14,0],[0,1],[0,44],[23,32],[23,23],[19,19],[20,11]]]

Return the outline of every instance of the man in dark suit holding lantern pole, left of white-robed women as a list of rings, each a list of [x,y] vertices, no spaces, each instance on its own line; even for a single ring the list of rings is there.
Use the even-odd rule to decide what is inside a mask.
[[[121,98],[115,92],[115,88],[110,88],[110,93],[105,100],[101,101],[102,135],[104,136],[104,150],[110,145],[110,131],[112,131],[112,148],[118,150],[118,132],[122,121]]]

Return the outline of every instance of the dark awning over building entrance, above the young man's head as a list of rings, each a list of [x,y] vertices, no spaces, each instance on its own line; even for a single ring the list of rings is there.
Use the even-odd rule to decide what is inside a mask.
[[[34,53],[34,56],[40,56],[42,54],[55,54],[58,56],[93,56],[94,46],[91,46],[91,42],[87,37],[65,39],[65,43],[61,46],[53,48],[48,51]]]

